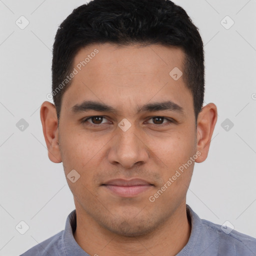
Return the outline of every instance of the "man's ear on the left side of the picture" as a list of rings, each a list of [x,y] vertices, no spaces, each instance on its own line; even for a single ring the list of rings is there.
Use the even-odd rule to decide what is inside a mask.
[[[40,108],[43,136],[48,149],[48,157],[52,162],[61,162],[58,143],[58,120],[55,106],[49,101],[44,101]]]

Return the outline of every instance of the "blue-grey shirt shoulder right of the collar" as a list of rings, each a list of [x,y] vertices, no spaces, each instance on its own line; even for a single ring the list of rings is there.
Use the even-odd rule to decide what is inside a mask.
[[[233,255],[237,256],[256,255],[256,238],[240,233],[229,227],[224,228],[219,224],[212,223],[205,219],[202,219],[202,224],[205,228],[217,232],[219,238],[219,255],[229,255],[228,253],[230,253],[230,251],[233,251]]]

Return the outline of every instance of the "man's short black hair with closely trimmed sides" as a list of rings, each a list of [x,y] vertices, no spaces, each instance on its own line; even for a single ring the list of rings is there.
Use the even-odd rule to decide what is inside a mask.
[[[204,96],[203,43],[185,10],[170,0],[91,0],[75,8],[55,35],[51,93],[58,121],[75,54],[82,47],[105,42],[180,47],[185,55],[183,79],[192,93],[197,120]]]

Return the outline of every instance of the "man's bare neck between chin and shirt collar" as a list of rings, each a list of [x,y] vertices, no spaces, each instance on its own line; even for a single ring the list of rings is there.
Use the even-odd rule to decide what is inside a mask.
[[[181,204],[157,230],[142,237],[119,236],[98,225],[85,211],[76,207],[74,239],[90,255],[176,255],[191,233],[185,203]]]

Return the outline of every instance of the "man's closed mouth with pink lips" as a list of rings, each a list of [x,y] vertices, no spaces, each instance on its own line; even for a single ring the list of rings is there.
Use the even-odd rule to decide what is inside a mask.
[[[149,183],[143,179],[112,179],[104,184],[102,184],[111,193],[121,196],[121,197],[133,197],[148,189],[150,189],[153,184]]]

